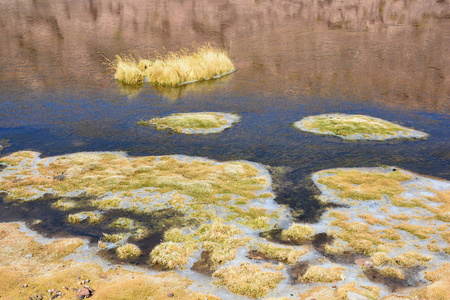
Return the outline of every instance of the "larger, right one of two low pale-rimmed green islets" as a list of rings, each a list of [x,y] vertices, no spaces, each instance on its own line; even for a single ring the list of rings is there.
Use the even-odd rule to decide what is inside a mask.
[[[294,127],[317,134],[335,135],[347,140],[387,140],[428,136],[424,132],[365,115],[309,116],[295,122]]]

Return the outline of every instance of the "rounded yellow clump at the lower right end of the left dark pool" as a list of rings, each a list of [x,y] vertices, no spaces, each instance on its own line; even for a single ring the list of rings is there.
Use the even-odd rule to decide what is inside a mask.
[[[180,245],[174,242],[164,242],[156,246],[150,253],[153,264],[161,265],[167,269],[184,269],[195,246],[185,243]]]

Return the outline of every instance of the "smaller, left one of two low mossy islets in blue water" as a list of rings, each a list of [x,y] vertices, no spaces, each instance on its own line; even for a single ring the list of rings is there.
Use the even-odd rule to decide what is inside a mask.
[[[176,113],[163,118],[140,121],[137,124],[152,125],[158,130],[171,130],[176,133],[208,134],[221,132],[239,120],[239,116],[229,113],[198,112]]]

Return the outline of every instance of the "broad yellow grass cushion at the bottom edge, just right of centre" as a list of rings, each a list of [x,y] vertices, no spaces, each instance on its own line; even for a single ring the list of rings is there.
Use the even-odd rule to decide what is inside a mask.
[[[264,297],[284,279],[280,272],[263,271],[249,263],[220,269],[213,277],[230,292],[250,298]]]

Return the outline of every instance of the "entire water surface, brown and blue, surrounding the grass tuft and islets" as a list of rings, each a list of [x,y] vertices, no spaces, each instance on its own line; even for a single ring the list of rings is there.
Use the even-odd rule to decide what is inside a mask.
[[[345,1],[344,1],[345,2]],[[278,201],[313,220],[311,172],[396,165],[450,179],[450,7],[444,1],[129,0],[0,2],[2,154],[185,154],[271,167]],[[102,53],[151,55],[212,43],[237,72],[180,88],[129,88]],[[136,122],[237,113],[221,134]],[[367,114],[430,134],[344,141],[294,129],[305,116]],[[278,168],[277,168],[278,167]],[[4,217],[4,214],[2,214]]]

